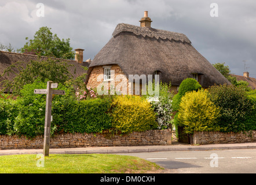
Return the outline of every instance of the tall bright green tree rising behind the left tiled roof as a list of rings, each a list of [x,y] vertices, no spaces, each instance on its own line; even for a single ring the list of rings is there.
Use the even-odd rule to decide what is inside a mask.
[[[61,40],[57,34],[53,35],[50,29],[52,28],[39,28],[35,32],[34,39],[25,38],[28,42],[18,51],[38,56],[74,59],[75,53],[70,47],[70,38]]]

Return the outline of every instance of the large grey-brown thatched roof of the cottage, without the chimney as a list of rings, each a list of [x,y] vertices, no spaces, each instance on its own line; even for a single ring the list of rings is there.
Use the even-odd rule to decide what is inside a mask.
[[[90,64],[87,80],[94,66],[117,64],[127,77],[160,71],[160,80],[175,86],[192,73],[202,76],[203,87],[230,84],[184,34],[122,23],[112,35]]]

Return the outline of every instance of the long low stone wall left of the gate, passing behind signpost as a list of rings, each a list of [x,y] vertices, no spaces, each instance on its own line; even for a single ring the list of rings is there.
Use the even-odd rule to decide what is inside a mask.
[[[171,145],[171,135],[171,129],[133,132],[122,136],[61,134],[50,138],[50,148]],[[24,136],[0,135],[0,149],[43,149],[43,136],[27,139]]]

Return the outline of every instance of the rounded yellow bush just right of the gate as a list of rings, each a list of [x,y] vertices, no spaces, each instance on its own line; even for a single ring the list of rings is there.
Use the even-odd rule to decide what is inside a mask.
[[[186,92],[181,98],[178,121],[185,125],[185,131],[217,130],[215,123],[220,115],[220,110],[211,102],[207,90]]]

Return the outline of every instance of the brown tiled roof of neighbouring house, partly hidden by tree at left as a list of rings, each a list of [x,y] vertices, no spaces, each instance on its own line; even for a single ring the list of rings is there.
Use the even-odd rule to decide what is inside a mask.
[[[8,68],[10,65],[15,64],[16,62],[21,62],[21,66],[25,68],[27,66],[28,62],[34,60],[47,60],[48,57],[38,57],[31,54],[21,54],[21,53],[12,53],[8,51],[0,51],[0,74],[2,75],[6,68]],[[52,58],[54,60],[58,61],[65,61],[68,62],[68,64],[72,64],[68,68],[68,70],[71,72],[72,76],[78,77],[85,73],[86,71],[81,68],[81,64],[78,64],[75,60],[64,60],[60,58]],[[83,66],[89,66],[89,63],[83,62]],[[18,70],[15,70],[15,72],[19,72]],[[16,75],[14,73],[9,73],[8,75],[0,77],[0,90],[2,89],[1,82],[3,80],[13,80]]]

